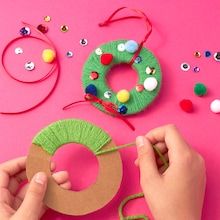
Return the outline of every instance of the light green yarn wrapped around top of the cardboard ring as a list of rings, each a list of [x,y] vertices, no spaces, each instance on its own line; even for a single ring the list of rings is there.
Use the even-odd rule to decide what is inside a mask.
[[[63,144],[79,143],[88,147],[94,154],[111,137],[101,128],[83,120],[66,119],[60,120],[41,130],[33,139],[33,144],[41,146],[50,155]]]

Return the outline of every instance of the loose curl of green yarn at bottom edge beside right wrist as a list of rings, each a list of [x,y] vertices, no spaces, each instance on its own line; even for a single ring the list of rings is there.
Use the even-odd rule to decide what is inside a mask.
[[[138,199],[138,198],[143,198],[144,197],[144,193],[137,193],[134,195],[130,195],[128,197],[126,197],[120,204],[119,208],[118,208],[118,214],[119,214],[119,218],[120,220],[135,220],[135,219],[143,219],[143,220],[149,220],[149,218],[146,215],[133,215],[133,216],[124,216],[123,215],[123,208],[124,206],[133,199]]]

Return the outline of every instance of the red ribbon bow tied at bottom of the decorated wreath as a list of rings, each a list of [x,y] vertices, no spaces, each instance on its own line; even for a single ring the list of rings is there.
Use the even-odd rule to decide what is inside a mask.
[[[135,130],[134,126],[123,116],[121,115],[118,111],[117,111],[117,105],[112,103],[112,102],[107,102],[103,99],[98,98],[97,96],[94,96],[92,94],[85,94],[84,96],[85,100],[80,100],[80,101],[76,101],[73,102],[65,107],[63,107],[63,110],[69,109],[71,108],[73,105],[77,104],[77,103],[81,103],[81,102],[93,102],[93,103],[98,103],[102,106],[102,108],[105,110],[105,112],[109,113],[110,115],[117,117],[119,119],[121,119],[122,121],[124,121],[129,128],[131,128],[133,131]]]

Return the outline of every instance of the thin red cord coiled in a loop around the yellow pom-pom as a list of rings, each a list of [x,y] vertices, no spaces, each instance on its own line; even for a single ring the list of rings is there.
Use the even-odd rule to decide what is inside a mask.
[[[13,40],[11,40],[7,45],[6,47],[4,48],[3,50],[3,53],[2,53],[2,57],[1,57],[1,62],[2,62],[2,65],[3,65],[3,68],[5,70],[5,72],[8,74],[8,76],[10,76],[13,80],[16,80],[20,83],[39,83],[39,82],[42,82],[44,80],[46,80],[47,78],[49,78],[53,73],[55,73],[55,71],[57,72],[56,74],[56,80],[54,82],[54,85],[53,87],[51,88],[51,90],[49,91],[49,93],[47,94],[47,96],[45,98],[43,98],[41,101],[39,101],[37,104],[35,104],[34,106],[28,108],[28,109],[24,109],[24,110],[21,110],[21,111],[17,111],[17,112],[0,112],[1,114],[20,114],[20,113],[25,113],[25,112],[28,112],[28,111],[31,111],[33,109],[35,109],[36,107],[40,106],[41,104],[43,104],[49,97],[50,95],[53,93],[53,91],[55,90],[56,86],[57,86],[57,83],[58,83],[58,80],[59,80],[59,74],[60,74],[60,65],[59,65],[59,62],[58,62],[58,58],[57,58],[57,55],[56,55],[56,60],[55,62],[53,63],[53,66],[52,68],[50,69],[50,71],[45,74],[43,77],[41,77],[40,79],[37,79],[37,80],[34,80],[34,81],[25,81],[25,80],[21,80],[21,79],[18,79],[16,77],[13,76],[13,74],[11,74],[6,65],[5,65],[5,62],[4,62],[4,58],[5,58],[5,53],[7,51],[7,49],[11,46],[11,44],[13,44],[14,42],[20,40],[20,39],[24,39],[24,38],[27,38],[27,39],[36,39],[36,40],[40,40],[44,43],[47,43],[54,51],[55,51],[55,54],[57,54],[56,52],[56,48],[54,46],[54,44],[50,41],[50,39],[45,35],[43,34],[42,32],[40,32],[37,28],[35,28],[34,26],[30,25],[30,24],[27,24],[25,22],[22,22],[25,26],[28,26],[30,27],[32,30],[35,30],[35,32],[42,36],[44,39],[42,38],[39,38],[39,37],[35,37],[35,36],[23,36],[23,37],[17,37]]]

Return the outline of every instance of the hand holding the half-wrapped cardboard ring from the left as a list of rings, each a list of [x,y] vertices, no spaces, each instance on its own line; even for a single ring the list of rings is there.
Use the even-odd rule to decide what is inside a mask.
[[[29,184],[19,190],[20,183],[27,179],[25,162],[26,157],[21,157],[0,164],[1,220],[38,220],[46,211],[43,198],[47,177],[44,173],[37,173]],[[52,163],[51,170],[54,169],[55,164]],[[66,171],[54,173],[53,177],[64,189],[71,188]]]

